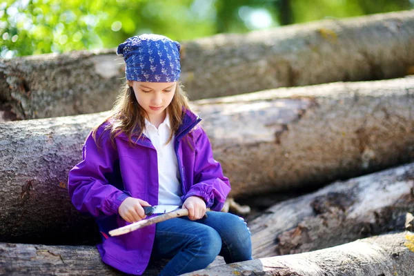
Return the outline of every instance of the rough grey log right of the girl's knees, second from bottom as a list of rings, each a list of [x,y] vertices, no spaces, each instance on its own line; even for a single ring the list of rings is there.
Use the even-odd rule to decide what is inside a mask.
[[[248,226],[253,257],[304,253],[404,230],[414,213],[414,163],[282,201]]]

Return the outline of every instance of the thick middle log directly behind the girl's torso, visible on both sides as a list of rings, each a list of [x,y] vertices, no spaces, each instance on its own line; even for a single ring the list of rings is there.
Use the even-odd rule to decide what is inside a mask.
[[[230,196],[239,197],[315,188],[414,160],[413,88],[414,78],[331,83],[193,106],[230,179]],[[66,182],[85,137],[106,115],[0,124],[0,224],[9,225],[0,228],[3,242],[96,242],[77,235],[95,224],[72,207]]]

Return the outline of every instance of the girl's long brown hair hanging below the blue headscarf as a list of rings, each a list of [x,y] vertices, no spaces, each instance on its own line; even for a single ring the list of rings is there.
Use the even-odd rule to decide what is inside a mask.
[[[170,116],[171,124],[171,133],[167,144],[171,141],[172,136],[177,132],[182,123],[183,111],[189,109],[187,94],[182,90],[181,83],[177,81],[174,97],[172,97],[170,105],[166,108],[168,115]],[[139,138],[143,137],[145,118],[148,119],[146,111],[139,106],[132,86],[126,81],[123,88],[121,88],[121,92],[117,97],[117,101],[115,101],[114,107],[110,110],[110,115],[104,120],[104,122],[110,120],[110,124],[106,126],[105,130],[110,130],[112,146],[115,148],[115,137],[120,135],[121,132],[124,132],[127,135],[130,146],[133,146],[132,135],[137,135]],[[96,135],[99,126],[101,126],[101,124],[95,126],[92,130],[92,137],[98,146],[100,143],[97,141]]]

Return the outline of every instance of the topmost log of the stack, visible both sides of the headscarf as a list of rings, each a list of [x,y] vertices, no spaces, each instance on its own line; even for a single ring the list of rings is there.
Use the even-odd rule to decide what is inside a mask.
[[[190,99],[414,73],[414,12],[324,20],[182,43]],[[0,62],[0,102],[17,119],[109,110],[123,82],[115,49]],[[10,116],[9,116],[10,117]]]

